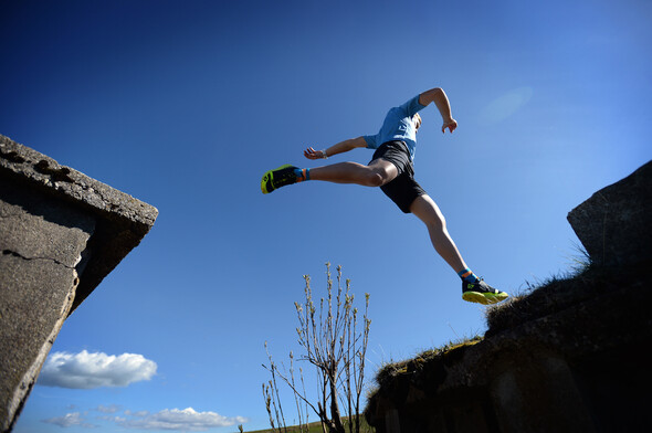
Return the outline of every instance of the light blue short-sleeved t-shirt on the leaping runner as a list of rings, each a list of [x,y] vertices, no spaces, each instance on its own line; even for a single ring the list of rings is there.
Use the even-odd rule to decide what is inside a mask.
[[[417,128],[414,114],[425,108],[419,103],[419,95],[414,96],[403,105],[390,108],[385,116],[385,122],[380,131],[375,136],[362,136],[367,141],[368,149],[378,149],[380,145],[387,141],[404,141],[410,150],[410,159],[414,160],[417,150]]]

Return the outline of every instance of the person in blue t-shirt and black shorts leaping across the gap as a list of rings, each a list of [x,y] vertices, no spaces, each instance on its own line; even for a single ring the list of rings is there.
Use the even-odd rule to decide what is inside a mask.
[[[443,118],[442,133],[446,129],[453,133],[458,123],[452,117],[449,98],[441,88],[431,88],[403,105],[391,108],[385,117],[380,131],[374,136],[344,140],[324,150],[308,147],[304,151],[306,158],[314,160],[326,159],[358,147],[376,149],[369,165],[338,162],[304,169],[285,165],[265,172],[261,189],[266,194],[286,184],[305,180],[380,187],[401,211],[413,213],[423,221],[434,250],[462,278],[464,300],[485,305],[499,303],[508,295],[491,287],[471,272],[446,230],[446,222],[439,207],[414,180],[417,130],[421,126],[419,112],[430,103],[434,103]]]

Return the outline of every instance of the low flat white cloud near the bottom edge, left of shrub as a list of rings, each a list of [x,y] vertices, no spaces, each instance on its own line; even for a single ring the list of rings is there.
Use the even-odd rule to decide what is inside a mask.
[[[139,412],[133,412],[130,414],[134,418],[116,419],[116,422],[126,429],[203,432],[208,429],[224,427],[248,421],[246,418],[242,416],[228,418],[215,412],[197,412],[192,408],[183,410],[165,409],[151,414]],[[137,416],[137,414],[141,416]]]

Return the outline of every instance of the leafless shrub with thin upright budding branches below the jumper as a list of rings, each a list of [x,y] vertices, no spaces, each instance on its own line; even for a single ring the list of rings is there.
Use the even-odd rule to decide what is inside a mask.
[[[360,394],[371,325],[367,317],[369,294],[365,294],[365,313],[359,324],[350,281],[346,279],[345,287],[341,284],[341,266],[337,266],[337,288],[333,287],[330,263],[326,263],[326,275],[327,296],[319,300],[318,309],[313,302],[308,275],[304,275],[305,304],[294,304],[299,324],[296,328],[298,344],[304,350],[297,360],[307,361],[315,368],[316,399],[312,400],[306,395],[303,369],[299,368],[298,374],[295,374],[294,353],[290,352],[290,369],[286,370],[283,365],[280,368],[273,361],[265,342],[270,365],[263,367],[270,371],[272,378],[263,383],[263,397],[270,424],[275,432],[287,432],[277,379],[293,391],[299,432],[308,431],[311,412],[319,418],[324,433],[345,433],[345,424],[348,432],[360,432]]]

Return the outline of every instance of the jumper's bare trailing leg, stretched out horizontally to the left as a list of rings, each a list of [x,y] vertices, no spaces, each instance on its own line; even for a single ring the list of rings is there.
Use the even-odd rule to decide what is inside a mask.
[[[364,187],[380,187],[397,176],[396,166],[385,159],[376,159],[369,166],[357,162],[338,162],[311,169],[312,180],[357,183]]]

